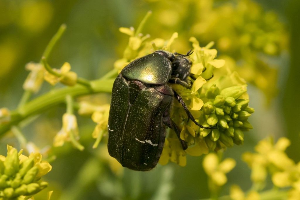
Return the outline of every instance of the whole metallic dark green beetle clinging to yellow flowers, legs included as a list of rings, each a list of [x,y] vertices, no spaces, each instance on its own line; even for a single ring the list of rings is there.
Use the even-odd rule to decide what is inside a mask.
[[[166,126],[174,130],[182,149],[180,129],[170,118],[175,97],[187,116],[201,128],[182,97],[170,83],[190,88],[191,61],[187,54],[157,50],[129,63],[113,84],[108,118],[108,152],[123,167],[147,171],[156,166],[166,137]]]

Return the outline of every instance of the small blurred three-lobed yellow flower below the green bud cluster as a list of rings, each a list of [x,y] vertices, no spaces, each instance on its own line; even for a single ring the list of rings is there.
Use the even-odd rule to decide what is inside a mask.
[[[226,158],[219,161],[217,154],[210,153],[203,159],[203,168],[210,180],[216,186],[222,186],[227,182],[226,174],[235,167],[235,160]]]

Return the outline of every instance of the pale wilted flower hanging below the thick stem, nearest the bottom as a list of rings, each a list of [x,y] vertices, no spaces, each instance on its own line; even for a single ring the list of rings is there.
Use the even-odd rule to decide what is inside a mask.
[[[54,137],[53,145],[55,147],[64,145],[64,142],[72,142],[72,144],[79,150],[84,147],[79,144],[79,133],[76,116],[65,113],[62,116],[62,128]]]

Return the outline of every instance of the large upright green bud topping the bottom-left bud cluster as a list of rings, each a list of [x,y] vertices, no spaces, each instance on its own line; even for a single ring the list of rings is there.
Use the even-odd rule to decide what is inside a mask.
[[[19,171],[19,157],[18,152],[15,148],[7,152],[7,157],[4,161],[4,173],[7,176],[12,176]]]

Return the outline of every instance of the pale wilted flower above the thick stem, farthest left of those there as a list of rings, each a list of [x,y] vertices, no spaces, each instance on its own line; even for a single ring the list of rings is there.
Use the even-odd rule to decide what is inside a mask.
[[[44,82],[45,68],[42,64],[33,62],[27,63],[25,68],[30,70],[30,73],[23,84],[23,89],[37,93]]]

